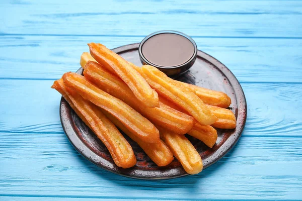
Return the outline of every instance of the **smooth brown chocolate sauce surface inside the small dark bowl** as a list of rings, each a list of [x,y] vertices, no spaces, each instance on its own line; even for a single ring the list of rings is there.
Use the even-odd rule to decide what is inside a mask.
[[[174,67],[189,61],[195,47],[186,37],[173,33],[162,33],[148,38],[141,52],[150,62],[158,66]]]

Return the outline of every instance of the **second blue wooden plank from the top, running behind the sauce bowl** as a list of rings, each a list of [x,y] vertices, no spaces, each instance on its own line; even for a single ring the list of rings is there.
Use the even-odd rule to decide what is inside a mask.
[[[77,70],[87,43],[108,48],[143,37],[5,36],[0,38],[0,78],[58,79]],[[199,49],[228,66],[241,82],[302,82],[302,40],[194,38]],[[138,58],[138,55],[137,55]],[[136,59],[138,61],[138,59]],[[136,63],[141,65],[141,63]]]

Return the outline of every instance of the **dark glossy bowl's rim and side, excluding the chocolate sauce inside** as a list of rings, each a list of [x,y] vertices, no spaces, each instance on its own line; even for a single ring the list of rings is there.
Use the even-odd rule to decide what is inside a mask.
[[[192,43],[193,45],[193,54],[191,56],[191,58],[189,58],[188,60],[186,60],[184,63],[181,63],[179,65],[174,65],[174,66],[162,66],[162,65],[157,65],[155,63],[153,63],[152,61],[149,61],[146,56],[143,54],[143,50],[142,50],[142,47],[144,45],[144,43],[149,40],[150,38],[154,37],[154,36],[157,36],[157,35],[160,35],[160,34],[176,34],[176,35],[179,35],[179,36],[182,36],[186,39],[189,40],[189,42]],[[158,41],[159,42],[159,41]],[[175,40],[175,43],[177,43],[178,41]],[[194,64],[195,60],[196,60],[196,56],[197,56],[197,45],[195,43],[195,41],[188,35],[184,34],[184,33],[181,33],[181,32],[177,32],[177,31],[159,31],[159,32],[154,32],[148,36],[146,36],[142,41],[141,43],[139,44],[139,47],[138,47],[138,53],[139,53],[139,57],[140,57],[140,60],[141,60],[141,63],[143,65],[152,65],[152,66],[155,66],[157,67],[159,70],[161,70],[162,72],[164,72],[166,75],[168,75],[169,77],[172,77],[172,78],[177,78],[179,76],[181,76],[182,74],[184,74],[185,72],[187,72],[191,67],[192,65]],[[167,52],[167,54],[169,54]]]

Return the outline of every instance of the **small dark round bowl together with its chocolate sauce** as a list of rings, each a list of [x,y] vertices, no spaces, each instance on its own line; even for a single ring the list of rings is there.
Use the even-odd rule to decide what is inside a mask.
[[[138,48],[143,65],[152,65],[176,78],[194,64],[197,45],[194,40],[181,32],[159,31],[146,36]]]

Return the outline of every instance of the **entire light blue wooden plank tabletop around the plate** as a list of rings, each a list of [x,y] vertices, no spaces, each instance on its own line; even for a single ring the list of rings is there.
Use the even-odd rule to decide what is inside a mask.
[[[302,199],[302,1],[0,1],[0,200]],[[86,43],[109,48],[171,29],[238,77],[242,138],[198,175],[108,173],[66,139],[60,95]]]

